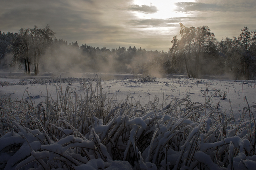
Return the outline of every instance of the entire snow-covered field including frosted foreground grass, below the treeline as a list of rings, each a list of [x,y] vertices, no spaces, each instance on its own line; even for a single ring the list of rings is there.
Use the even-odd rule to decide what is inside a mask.
[[[0,78],[1,169],[256,166],[255,80],[89,77]]]

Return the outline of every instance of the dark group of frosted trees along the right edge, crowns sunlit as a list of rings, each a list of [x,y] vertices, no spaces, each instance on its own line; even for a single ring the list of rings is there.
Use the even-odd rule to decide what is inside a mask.
[[[238,38],[218,42],[207,26],[187,28],[181,23],[180,27],[181,39],[174,37],[169,50],[173,69],[188,77],[224,73],[238,79],[255,77],[256,31],[244,27]]]

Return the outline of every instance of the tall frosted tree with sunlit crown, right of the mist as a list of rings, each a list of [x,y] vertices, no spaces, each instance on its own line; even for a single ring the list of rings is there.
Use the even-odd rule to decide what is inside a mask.
[[[208,26],[187,28],[180,23],[180,28],[181,40],[174,37],[169,51],[173,54],[172,61],[184,62],[188,77],[198,78],[201,73],[209,72],[206,65],[210,64],[206,61],[217,57],[217,40]]]

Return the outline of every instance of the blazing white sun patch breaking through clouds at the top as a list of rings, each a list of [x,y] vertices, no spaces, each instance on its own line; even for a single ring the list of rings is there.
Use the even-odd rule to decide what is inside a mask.
[[[194,0],[134,0],[136,5],[148,5],[156,6],[158,12],[152,14],[137,13],[137,16],[141,19],[168,19],[168,18],[178,18],[186,17],[188,14],[175,11],[177,2],[194,2]]]

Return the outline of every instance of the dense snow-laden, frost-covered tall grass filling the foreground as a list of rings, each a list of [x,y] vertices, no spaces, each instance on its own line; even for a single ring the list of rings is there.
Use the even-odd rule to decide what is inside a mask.
[[[253,169],[256,105],[240,122],[189,97],[142,106],[118,102],[101,81],[82,80],[83,95],[56,82],[57,99],[4,97],[0,104],[0,169]],[[46,86],[47,87],[47,86]],[[24,91],[24,95],[27,90]],[[24,96],[23,95],[23,96]],[[168,98],[168,96],[166,97]],[[243,118],[249,117],[249,121]],[[247,120],[247,119],[246,119]]]

